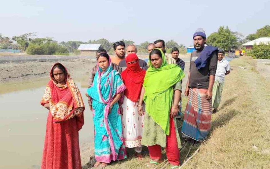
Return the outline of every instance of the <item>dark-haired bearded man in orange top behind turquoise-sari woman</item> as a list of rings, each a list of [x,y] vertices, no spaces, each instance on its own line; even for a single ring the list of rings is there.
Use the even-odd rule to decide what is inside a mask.
[[[125,42],[123,42],[123,41],[115,42],[113,44],[113,47],[114,47],[115,55],[116,56],[112,56],[112,57],[110,57],[110,59],[111,59],[111,62],[112,63],[119,65],[119,62],[121,60],[124,60],[125,59],[125,54],[126,54],[126,51],[125,51],[125,47],[126,47]]]

